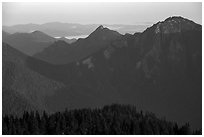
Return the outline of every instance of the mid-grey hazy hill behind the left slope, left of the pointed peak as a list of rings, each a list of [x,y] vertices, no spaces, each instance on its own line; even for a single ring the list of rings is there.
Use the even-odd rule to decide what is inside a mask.
[[[56,40],[43,32],[34,31],[31,33],[3,35],[2,41],[27,55],[33,55],[42,51]]]

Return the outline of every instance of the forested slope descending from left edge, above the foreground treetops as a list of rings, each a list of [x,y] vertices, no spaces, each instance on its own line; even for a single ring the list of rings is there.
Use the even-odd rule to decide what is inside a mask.
[[[64,85],[29,69],[26,66],[29,57],[11,46],[3,43],[2,50],[3,115],[47,110],[43,103],[44,97],[52,95]]]

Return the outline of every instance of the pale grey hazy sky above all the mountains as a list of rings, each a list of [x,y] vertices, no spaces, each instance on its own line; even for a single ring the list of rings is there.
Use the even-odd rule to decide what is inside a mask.
[[[156,23],[169,16],[183,16],[202,23],[202,3],[3,3],[2,24]]]

